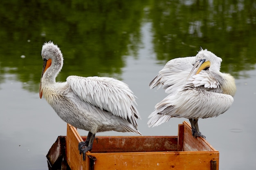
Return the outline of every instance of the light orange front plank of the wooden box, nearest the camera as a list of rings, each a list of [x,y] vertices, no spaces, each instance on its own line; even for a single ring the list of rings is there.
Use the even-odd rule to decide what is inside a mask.
[[[218,153],[210,152],[136,152],[90,153],[97,157],[95,170],[210,170]],[[217,167],[218,167],[218,161]]]

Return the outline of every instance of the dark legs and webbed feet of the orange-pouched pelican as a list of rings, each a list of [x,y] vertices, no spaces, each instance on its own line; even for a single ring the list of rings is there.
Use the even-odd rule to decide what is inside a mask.
[[[85,161],[85,153],[88,150],[92,150],[92,144],[95,138],[95,134],[92,134],[91,132],[88,133],[88,136],[84,142],[79,143],[79,152],[80,154],[83,153],[83,160]],[[82,144],[81,144],[82,143]]]

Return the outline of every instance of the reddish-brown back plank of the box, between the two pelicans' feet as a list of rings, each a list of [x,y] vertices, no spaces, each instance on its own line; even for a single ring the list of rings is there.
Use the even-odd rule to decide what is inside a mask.
[[[82,137],[83,140],[86,137]],[[91,152],[177,151],[177,137],[171,136],[101,136],[95,137]]]

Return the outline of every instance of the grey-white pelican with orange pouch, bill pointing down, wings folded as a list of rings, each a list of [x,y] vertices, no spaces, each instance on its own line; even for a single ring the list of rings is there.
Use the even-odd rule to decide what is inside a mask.
[[[63,121],[89,131],[84,142],[79,143],[80,154],[92,149],[97,132],[114,130],[135,132],[136,119],[141,119],[128,85],[110,77],[69,76],[66,82],[56,82],[63,66],[61,50],[53,42],[42,48],[43,71],[40,80],[40,98],[44,95]]]

